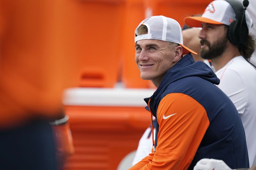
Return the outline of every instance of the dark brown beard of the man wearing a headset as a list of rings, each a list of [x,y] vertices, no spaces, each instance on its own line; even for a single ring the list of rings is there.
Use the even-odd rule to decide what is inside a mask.
[[[203,59],[214,59],[223,54],[227,47],[228,37],[224,35],[220,40],[214,42],[212,45],[209,41],[201,40],[201,45],[207,45],[208,50],[201,49],[200,55]]]

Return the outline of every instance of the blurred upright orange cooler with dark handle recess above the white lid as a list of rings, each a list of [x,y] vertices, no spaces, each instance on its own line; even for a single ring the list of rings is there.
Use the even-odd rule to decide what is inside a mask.
[[[62,0],[67,54],[81,87],[109,87],[121,64],[124,0]],[[78,77],[80,76],[80,77]]]

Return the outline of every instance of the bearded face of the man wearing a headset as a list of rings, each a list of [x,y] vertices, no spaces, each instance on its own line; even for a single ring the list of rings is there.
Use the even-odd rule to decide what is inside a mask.
[[[227,47],[227,28],[224,25],[202,23],[200,55],[204,59],[214,59],[223,54]]]

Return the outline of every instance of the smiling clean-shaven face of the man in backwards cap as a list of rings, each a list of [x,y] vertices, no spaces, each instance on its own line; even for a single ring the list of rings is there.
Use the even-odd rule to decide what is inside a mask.
[[[175,45],[160,40],[140,40],[135,44],[135,62],[144,80],[161,82],[167,70],[177,59]]]

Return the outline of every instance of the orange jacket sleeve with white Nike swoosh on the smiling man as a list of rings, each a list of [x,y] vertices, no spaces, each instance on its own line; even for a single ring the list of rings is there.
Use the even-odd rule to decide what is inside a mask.
[[[157,121],[156,152],[152,161],[137,169],[188,169],[209,127],[204,107],[188,95],[171,93],[161,100]]]

